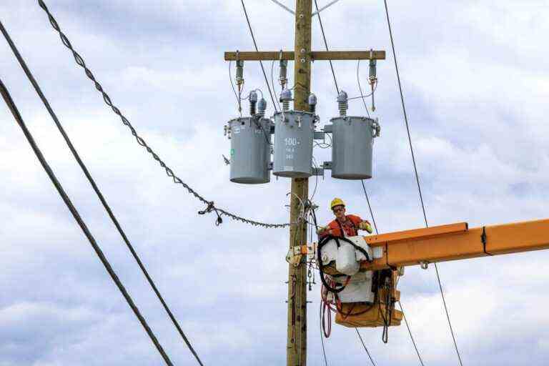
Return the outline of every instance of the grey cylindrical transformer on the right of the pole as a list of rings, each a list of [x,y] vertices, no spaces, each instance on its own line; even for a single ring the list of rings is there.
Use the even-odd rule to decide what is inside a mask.
[[[332,178],[372,178],[372,152],[378,124],[366,117],[337,117],[332,122]]]

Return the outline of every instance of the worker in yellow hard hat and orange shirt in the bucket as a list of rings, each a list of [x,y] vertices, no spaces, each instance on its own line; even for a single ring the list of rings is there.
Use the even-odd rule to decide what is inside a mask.
[[[335,214],[335,220],[326,227],[319,227],[317,234],[320,237],[332,235],[334,237],[355,237],[358,229],[366,230],[372,234],[372,225],[370,222],[361,219],[354,214],[345,214],[345,202],[340,198],[335,198],[330,203],[330,209]]]

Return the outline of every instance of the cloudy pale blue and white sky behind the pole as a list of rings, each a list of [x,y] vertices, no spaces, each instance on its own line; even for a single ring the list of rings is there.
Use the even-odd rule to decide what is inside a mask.
[[[222,158],[229,152],[223,126],[237,116],[223,52],[253,46],[239,1],[46,4],[114,104],[184,182],[231,212],[287,222],[288,179],[233,184]],[[292,48],[291,14],[269,0],[246,4],[260,49]],[[548,2],[388,5],[429,224],[477,227],[548,217]],[[198,215],[204,205],[135,142],[37,1],[1,1],[0,20],[204,365],[283,364],[287,229],[228,218],[216,227],[214,215]],[[377,64],[372,115],[382,131],[366,188],[380,232],[422,227],[383,2],[342,0],[322,20],[330,49],[387,51]],[[322,47],[315,20],[313,49]],[[270,76],[271,64],[265,67]],[[335,73],[342,89],[359,94],[356,62],[336,61]],[[320,124],[327,124],[337,115],[330,68],[317,61],[312,74]],[[258,64],[246,63],[244,76],[246,89],[267,91]],[[360,77],[366,84],[365,63]],[[0,78],[174,365],[194,365],[4,41]],[[349,114],[365,114],[360,100],[350,102]],[[0,156],[0,366],[160,365],[6,107],[0,107]],[[330,160],[330,152],[315,149],[315,158]],[[370,218],[360,182],[327,173],[310,179],[311,191],[315,185],[320,221],[331,219],[333,197]],[[549,252],[542,251],[439,265],[464,365],[546,364],[548,263]],[[425,365],[458,365],[434,268],[407,268],[399,287]],[[315,285],[307,293],[309,365],[324,364],[319,292]],[[404,326],[390,330],[387,345],[380,330],[361,332],[377,365],[419,364]],[[325,345],[329,365],[369,362],[354,330],[334,326]]]

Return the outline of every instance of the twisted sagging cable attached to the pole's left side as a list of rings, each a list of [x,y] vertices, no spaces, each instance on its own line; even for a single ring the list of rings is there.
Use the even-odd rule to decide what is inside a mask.
[[[67,38],[67,36],[61,31],[61,27],[59,26],[56,19],[54,18],[54,16],[49,11],[49,9],[46,6],[46,4],[44,3],[44,1],[43,0],[38,0],[38,3],[40,5],[40,7],[48,15],[49,22],[50,22],[51,26],[55,29],[55,31],[57,31],[57,33],[59,33],[59,37],[61,38],[61,42],[64,44],[64,46],[66,46],[67,49],[69,49],[72,52],[72,55],[74,56],[74,60],[76,61],[76,64],[78,64],[79,66],[81,66],[82,69],[84,69],[84,71],[86,72],[86,76],[88,76],[88,78],[91,81],[94,82],[95,88],[97,89],[97,91],[99,91],[102,94],[102,97],[103,97],[103,100],[104,100],[105,104],[107,104],[107,106],[111,107],[112,111],[120,117],[120,119],[122,120],[122,123],[129,128],[130,132],[132,132],[132,135],[135,137],[137,143],[139,145],[141,145],[142,147],[144,147],[144,149],[146,149],[149,154],[151,154],[153,159],[156,160],[159,163],[160,167],[164,168],[164,170],[166,171],[167,176],[172,178],[175,184],[181,184],[185,189],[187,189],[189,194],[192,194],[194,197],[199,199],[199,201],[202,202],[203,204],[207,204],[207,209],[204,209],[204,211],[201,211],[199,213],[205,214],[205,213],[213,211],[213,212],[216,212],[218,214],[218,220],[220,219],[219,215],[224,215],[224,216],[230,217],[231,219],[234,219],[236,221],[244,222],[245,224],[251,224],[252,226],[255,226],[255,227],[264,227],[264,228],[269,228],[269,229],[283,228],[283,227],[289,227],[290,226],[290,223],[287,223],[287,224],[267,224],[267,223],[264,223],[264,222],[257,222],[257,221],[251,220],[251,219],[246,219],[244,217],[240,217],[237,214],[233,214],[232,212],[228,212],[227,210],[220,209],[220,208],[215,206],[213,201],[208,201],[207,199],[202,197],[197,191],[192,189],[192,187],[190,187],[189,184],[183,182],[181,178],[177,177],[177,175],[174,173],[172,168],[168,167],[167,164],[164,161],[162,161],[162,159],[160,159],[159,155],[156,152],[154,152],[154,150],[151,147],[149,147],[149,144],[147,144],[147,142],[145,142],[145,140],[141,136],[139,136],[139,134],[137,134],[137,130],[129,122],[129,119],[127,119],[124,116],[124,114],[122,114],[122,112],[120,112],[120,109],[114,105],[114,103],[112,102],[111,97],[109,97],[109,94],[107,94],[107,92],[104,91],[102,85],[99,84],[99,81],[97,81],[97,79],[95,79],[94,74],[86,66],[86,63],[84,62],[84,59],[82,58],[82,56],[80,56],[80,54],[74,50],[74,48],[73,48],[71,42],[69,41],[69,39]]]

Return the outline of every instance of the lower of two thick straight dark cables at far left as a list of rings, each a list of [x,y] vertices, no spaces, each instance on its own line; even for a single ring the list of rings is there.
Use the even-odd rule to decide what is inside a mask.
[[[143,326],[145,332],[147,332],[147,335],[151,338],[152,342],[154,343],[154,346],[157,347],[158,352],[164,359],[164,362],[166,362],[166,365],[173,366],[172,361],[169,360],[168,355],[166,352],[164,352],[164,349],[162,348],[162,345],[157,340],[157,337],[152,332],[151,328],[147,324],[147,320],[141,315],[141,312],[139,312],[139,309],[134,303],[134,300],[132,300],[132,297],[128,294],[126,288],[124,285],[122,285],[122,282],[120,281],[119,277],[117,276],[116,272],[114,272],[114,269],[112,269],[111,264],[109,263],[109,260],[105,255],[103,254],[101,248],[99,247],[99,244],[95,241],[93,235],[91,232],[89,232],[88,227],[86,226],[86,223],[84,220],[80,217],[80,214],[76,207],[74,207],[74,204],[72,204],[71,199],[69,196],[67,196],[65,190],[61,186],[61,183],[59,183],[59,180],[57,180],[57,177],[55,176],[55,173],[53,170],[51,170],[51,167],[49,166],[48,162],[46,161],[46,158],[40,151],[40,148],[34,141],[34,137],[32,137],[31,132],[29,132],[29,129],[27,129],[26,124],[21,117],[21,114],[19,114],[19,110],[17,109],[13,99],[11,99],[11,95],[9,94],[8,89],[6,89],[6,86],[4,86],[4,82],[0,80],[0,93],[2,94],[2,97],[4,98],[4,101],[6,102],[6,105],[8,106],[9,110],[11,111],[11,114],[14,115],[14,119],[16,120],[17,124],[19,124],[19,127],[21,127],[21,130],[23,131],[27,141],[31,145],[32,150],[34,151],[34,154],[39,159],[39,162],[41,166],[44,168],[44,171],[46,174],[48,174],[49,179],[51,180],[51,183],[54,184],[55,189],[59,193],[59,196],[61,196],[61,199],[63,199],[64,203],[66,204],[66,207],[71,212],[72,216],[76,220],[76,223],[81,228],[82,232],[84,232],[84,235],[86,235],[86,238],[89,240],[89,244],[91,244],[91,247],[93,247],[94,251],[97,254],[97,257],[99,257],[99,260],[101,260],[103,266],[109,273],[109,276],[111,276],[114,283],[117,285],[119,291],[124,296],[124,299],[126,299],[129,307],[132,308],[132,311],[134,312],[135,316],[141,322],[141,325]]]

